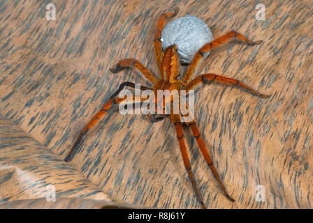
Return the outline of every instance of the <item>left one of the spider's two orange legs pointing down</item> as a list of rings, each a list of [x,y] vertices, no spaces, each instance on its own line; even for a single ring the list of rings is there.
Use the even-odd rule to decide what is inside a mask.
[[[187,170],[187,173],[188,173],[189,178],[191,180],[192,186],[194,187],[194,190],[196,192],[198,200],[201,203],[202,208],[206,209],[205,204],[203,203],[203,199],[201,197],[201,194],[198,190],[198,186],[196,184],[194,174],[191,171],[191,165],[190,165],[190,161],[189,161],[190,159],[189,159],[189,155],[187,153],[186,143],[184,141],[184,132],[182,130],[182,123],[180,122],[180,116],[175,115],[175,114],[171,114],[170,119],[172,120],[172,123],[175,125],[175,128],[176,128],[177,139],[178,139],[178,143],[180,144],[180,153],[182,153],[182,160],[184,161],[184,167]]]

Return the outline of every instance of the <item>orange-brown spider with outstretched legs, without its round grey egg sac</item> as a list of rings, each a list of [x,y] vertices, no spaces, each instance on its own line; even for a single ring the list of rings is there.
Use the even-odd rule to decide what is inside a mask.
[[[194,79],[191,79],[191,76],[194,75],[194,71],[196,69],[196,66],[198,65],[199,61],[203,58],[203,54],[205,52],[209,52],[211,49],[214,49],[223,43],[228,42],[229,40],[232,40],[233,38],[242,40],[244,43],[247,43],[248,45],[254,46],[259,45],[262,43],[262,40],[252,42],[251,40],[247,39],[242,34],[238,33],[237,31],[230,31],[226,33],[226,35],[221,36],[220,38],[212,40],[210,43],[207,43],[201,47],[201,49],[196,52],[194,59],[191,61],[189,68],[187,69],[187,72],[184,74],[184,77],[182,79],[179,78],[180,72],[179,72],[179,57],[177,54],[177,46],[172,45],[168,47],[165,51],[161,48],[161,31],[163,27],[166,24],[166,19],[174,17],[177,15],[179,11],[179,8],[175,8],[175,10],[163,13],[160,15],[159,20],[157,22],[157,31],[154,34],[154,54],[157,60],[157,66],[159,68],[159,72],[161,73],[161,78],[157,79],[154,75],[152,75],[152,72],[147,70],[145,66],[143,66],[140,61],[136,59],[124,59],[122,61],[119,61],[117,63],[117,66],[115,68],[111,68],[110,71],[113,73],[117,73],[121,70],[124,70],[126,68],[135,67],[138,69],[151,83],[152,88],[142,86],[141,90],[150,89],[154,93],[157,92],[157,90],[185,90],[189,91],[191,89],[194,89],[196,86],[200,84],[205,84],[207,82],[218,82],[222,84],[228,84],[231,86],[238,86],[240,89],[243,89],[245,91],[248,91],[252,95],[259,96],[261,98],[268,98],[269,95],[264,95],[259,93],[258,91],[255,91],[254,89],[250,88],[246,84],[243,84],[237,79],[232,79],[228,77],[224,77],[221,75],[215,75],[213,73],[207,73],[203,75],[198,75],[197,77],[194,77]],[[112,107],[112,105],[120,104],[123,102],[126,98],[119,98],[119,93],[124,89],[125,86],[129,86],[134,88],[135,84],[131,82],[124,82],[120,84],[119,89],[110,97],[110,100],[106,102],[101,110],[92,118],[92,120],[85,126],[85,128],[80,132],[80,135],[78,139],[75,141],[75,144],[71,148],[70,153],[66,156],[65,160],[66,162],[72,160],[73,155],[75,151],[77,151],[77,147],[82,141],[82,137],[88,132],[88,130],[94,128],[96,123],[99,122],[99,120],[103,117],[103,115],[108,112],[108,110]],[[140,98],[139,101],[147,100],[147,98]],[[172,100],[172,99],[171,99]],[[138,102],[138,99],[136,100],[136,97],[133,96],[131,102]],[[156,99],[157,102],[157,99]],[[200,131],[197,128],[196,122],[194,119],[192,121],[188,122],[182,122],[182,119],[180,114],[174,114],[173,112],[173,104],[171,104],[170,109],[170,120],[172,121],[173,125],[175,126],[176,134],[178,143],[180,146],[180,152],[182,155],[182,160],[184,162],[184,167],[187,170],[187,173],[189,174],[189,178],[191,180],[192,186],[194,187],[194,190],[196,192],[196,196],[198,198],[198,201],[201,203],[202,208],[206,208],[205,204],[203,203],[203,199],[201,197],[201,194],[198,190],[198,186],[196,184],[196,180],[194,178],[194,174],[191,171],[191,164],[189,160],[189,154],[187,153],[187,146],[185,144],[184,140],[184,133],[183,133],[183,126],[187,125],[187,127],[190,128],[191,133],[193,137],[196,139],[196,142],[198,144],[198,147],[200,148],[201,154],[203,155],[205,162],[210,167],[212,174],[216,178],[217,182],[219,183],[219,186],[221,187],[221,191],[224,193],[226,198],[230,201],[235,201],[226,191],[226,187],[224,186],[224,183],[221,181],[221,178],[219,177],[219,174],[217,173],[217,170],[214,167],[214,164],[212,162],[212,158],[210,155],[210,152],[208,150],[208,147],[205,145],[205,142],[203,141],[203,138],[201,137]],[[166,116],[161,116],[158,118],[155,118],[154,116],[150,115],[150,118],[153,122],[161,121]]]

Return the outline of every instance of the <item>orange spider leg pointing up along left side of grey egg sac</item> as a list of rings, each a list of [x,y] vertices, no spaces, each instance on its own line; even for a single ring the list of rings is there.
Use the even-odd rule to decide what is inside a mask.
[[[179,8],[175,8],[173,12],[167,12],[163,13],[160,15],[159,20],[157,22],[157,30],[155,31],[154,34],[154,40],[153,40],[153,45],[154,45],[154,55],[157,60],[157,66],[159,68],[159,71],[161,72],[162,79],[165,79],[164,77],[164,72],[163,72],[163,67],[162,67],[162,47],[161,47],[161,33],[162,30],[165,26],[165,20],[166,18],[171,18],[177,15],[177,13],[180,11]]]

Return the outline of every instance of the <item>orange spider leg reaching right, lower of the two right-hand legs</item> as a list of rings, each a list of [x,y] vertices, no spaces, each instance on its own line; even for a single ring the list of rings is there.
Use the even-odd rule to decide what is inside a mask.
[[[256,96],[261,97],[261,98],[270,97],[270,95],[264,95],[262,93],[259,93],[256,90],[250,88],[246,84],[243,84],[242,82],[240,82],[238,79],[233,79],[233,78],[224,77],[224,76],[215,75],[215,74],[205,74],[205,75],[200,75],[198,77],[195,77],[194,79],[192,79],[187,84],[187,86],[185,88],[186,91],[193,89],[194,87],[198,86],[198,84],[205,83],[205,80],[215,81],[215,82],[219,82],[221,84],[229,84],[229,85],[233,85],[233,86],[238,86],[241,89],[244,89],[245,91],[251,93],[252,95],[256,95]]]

